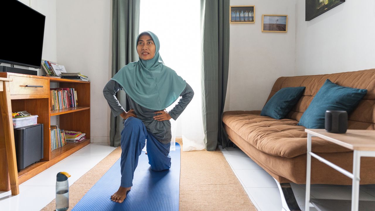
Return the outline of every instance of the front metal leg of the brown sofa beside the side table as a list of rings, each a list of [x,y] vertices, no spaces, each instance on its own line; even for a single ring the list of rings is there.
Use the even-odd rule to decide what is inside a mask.
[[[279,187],[282,207],[287,211],[301,211],[290,183],[279,183],[276,179],[275,181]]]

